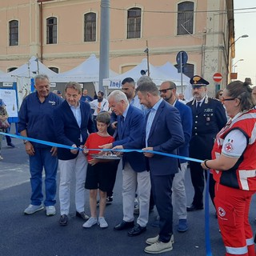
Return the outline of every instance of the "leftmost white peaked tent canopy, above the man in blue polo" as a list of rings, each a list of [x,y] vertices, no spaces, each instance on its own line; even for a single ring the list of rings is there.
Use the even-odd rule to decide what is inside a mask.
[[[0,82],[16,82],[17,78],[34,78],[36,74],[46,74],[49,77],[56,73],[43,65],[36,57],[31,57],[29,62],[26,62],[18,69],[6,74],[0,75]]]

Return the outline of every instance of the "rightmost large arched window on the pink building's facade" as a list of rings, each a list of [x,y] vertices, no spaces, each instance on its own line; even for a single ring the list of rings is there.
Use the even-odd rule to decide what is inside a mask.
[[[178,4],[177,34],[193,34],[194,2]]]

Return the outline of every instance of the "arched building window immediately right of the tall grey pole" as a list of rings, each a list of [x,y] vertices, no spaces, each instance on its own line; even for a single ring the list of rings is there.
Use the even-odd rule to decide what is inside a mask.
[[[127,38],[141,37],[141,18],[142,10],[140,8],[130,8],[127,15]]]

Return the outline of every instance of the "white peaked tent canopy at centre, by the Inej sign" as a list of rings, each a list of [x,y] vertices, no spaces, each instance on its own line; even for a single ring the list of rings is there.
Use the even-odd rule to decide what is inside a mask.
[[[157,86],[166,80],[168,77],[166,74],[163,74],[161,70],[157,67],[149,64],[150,66],[150,78],[154,81]],[[103,86],[108,86],[109,89],[120,89],[122,80],[125,78],[133,78],[135,82],[142,77],[141,70],[147,70],[147,60],[146,58],[142,59],[142,62],[137,66],[134,66],[131,70],[128,70],[126,73],[119,74],[114,78],[107,78],[103,80]]]

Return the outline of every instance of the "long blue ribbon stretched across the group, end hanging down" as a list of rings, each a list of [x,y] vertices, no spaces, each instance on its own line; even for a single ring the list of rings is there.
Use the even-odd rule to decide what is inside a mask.
[[[36,139],[36,138],[28,138],[28,137],[23,137],[23,136],[19,136],[19,135],[15,135],[15,134],[6,134],[3,132],[0,132],[0,134],[2,135],[6,135],[6,136],[10,136],[13,138],[21,138],[21,139],[25,139],[27,141],[30,142],[36,142],[36,143],[40,143],[40,144],[44,144],[47,146],[55,146],[55,147],[62,147],[64,149],[67,150],[83,150],[82,148],[79,147],[73,147],[73,146],[66,146],[66,145],[62,145],[62,144],[58,144],[58,143],[54,143],[54,142],[46,142],[40,139]],[[97,151],[113,151],[111,149],[87,149],[87,150],[97,150]],[[158,152],[158,151],[154,151],[154,150],[135,150],[135,149],[131,149],[131,150],[114,150],[114,151],[119,151],[119,152],[139,152],[139,153],[152,153],[152,154],[161,154],[164,155],[166,157],[170,157],[170,158],[179,158],[179,159],[183,159],[186,161],[193,161],[193,162],[202,162],[202,160],[199,159],[195,159],[195,158],[187,158],[187,157],[183,157],[180,155],[176,155],[176,154],[167,154],[167,153],[163,153],[163,152]],[[205,198],[205,239],[206,239],[206,256],[211,256],[211,249],[210,249],[210,218],[209,218],[209,179],[210,179],[210,171],[207,170],[207,181],[206,181],[206,198]]]

